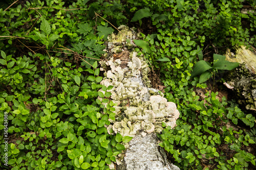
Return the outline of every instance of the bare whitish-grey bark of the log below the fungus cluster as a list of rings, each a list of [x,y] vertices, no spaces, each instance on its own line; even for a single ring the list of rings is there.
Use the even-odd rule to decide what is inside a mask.
[[[144,137],[137,135],[129,144],[124,161],[117,165],[117,170],[179,170],[177,166],[167,161],[163,149],[159,148],[155,134]]]

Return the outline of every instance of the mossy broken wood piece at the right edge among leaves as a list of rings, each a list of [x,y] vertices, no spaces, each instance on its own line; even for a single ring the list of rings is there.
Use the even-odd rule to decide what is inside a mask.
[[[236,55],[227,50],[226,60],[240,63],[238,68],[230,71],[225,76],[227,80],[226,86],[236,91],[240,104],[245,104],[248,110],[256,111],[255,53],[242,46],[237,48]]]

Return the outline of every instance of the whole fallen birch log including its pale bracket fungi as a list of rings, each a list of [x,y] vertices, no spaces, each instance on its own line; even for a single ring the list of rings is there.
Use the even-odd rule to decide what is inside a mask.
[[[135,32],[126,27],[121,32],[129,39],[136,38]],[[116,119],[110,120],[111,125],[106,127],[110,134],[133,136],[125,143],[126,151],[116,157],[118,169],[179,169],[167,161],[156,136],[162,131],[162,122],[172,128],[176,126],[180,114],[176,105],[167,102],[163,93],[150,88],[147,77],[150,68],[143,56],[134,52],[132,41],[127,43],[120,33],[113,34],[109,41],[106,43],[108,61],[100,62],[104,71],[101,84],[114,86],[108,91],[117,106]]]

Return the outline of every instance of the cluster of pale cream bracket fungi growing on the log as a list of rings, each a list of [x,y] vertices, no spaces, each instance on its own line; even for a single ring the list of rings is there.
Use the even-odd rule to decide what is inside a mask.
[[[162,122],[174,128],[180,115],[175,103],[167,102],[157,94],[157,90],[144,85],[141,69],[148,67],[145,61],[134,57],[136,55],[133,52],[130,61],[125,61],[126,64],[120,59],[114,61],[113,58],[101,62],[105,70],[101,85],[114,86],[109,91],[112,93],[111,100],[118,104],[115,107],[116,120],[111,120],[113,125],[108,127],[109,133],[111,128],[122,136],[134,136],[138,133],[145,136],[154,131],[160,133]],[[126,66],[122,68],[121,65]],[[151,95],[149,91],[154,91],[155,95]]]

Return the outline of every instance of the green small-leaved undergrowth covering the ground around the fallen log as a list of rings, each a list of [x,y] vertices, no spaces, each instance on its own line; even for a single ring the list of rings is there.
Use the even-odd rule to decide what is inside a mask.
[[[253,114],[207,92],[198,77],[190,79],[201,49],[218,53],[233,45],[256,46],[256,15],[250,12],[255,3],[38,0],[8,8],[11,3],[0,4],[1,169],[108,169],[125,149],[121,142],[131,137],[109,135],[104,127],[115,118],[111,94],[98,92],[111,88],[99,84],[97,62],[115,31],[106,20],[141,32],[142,53],[160,73],[166,99],[181,113],[175,129],[159,134],[174,164],[255,167]],[[196,88],[206,90],[204,98]]]

